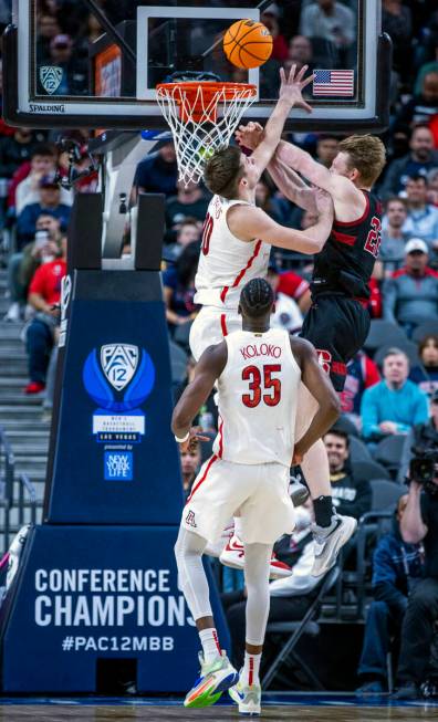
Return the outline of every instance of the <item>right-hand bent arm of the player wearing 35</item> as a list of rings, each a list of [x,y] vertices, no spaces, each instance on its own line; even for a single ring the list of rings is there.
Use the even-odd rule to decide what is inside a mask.
[[[304,436],[295,443],[294,463],[333,426],[341,414],[341,402],[327,374],[317,363],[317,355],[304,338],[291,338],[292,353],[301,366],[302,381],[320,405],[312,423]]]

